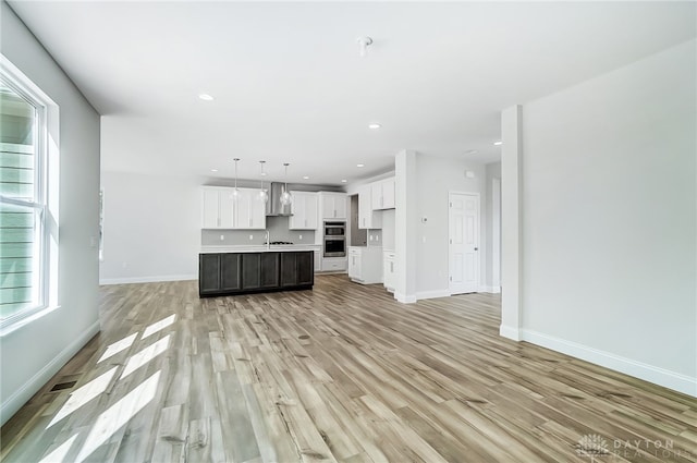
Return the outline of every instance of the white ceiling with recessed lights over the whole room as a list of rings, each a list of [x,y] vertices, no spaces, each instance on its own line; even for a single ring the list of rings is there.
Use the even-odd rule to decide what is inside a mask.
[[[239,157],[241,179],[265,159],[335,185],[403,148],[498,160],[501,109],[696,31],[694,2],[10,4],[105,115],[102,170],[232,176]]]

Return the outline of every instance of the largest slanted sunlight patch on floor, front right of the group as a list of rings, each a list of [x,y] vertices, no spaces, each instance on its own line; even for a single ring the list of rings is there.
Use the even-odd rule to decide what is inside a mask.
[[[121,426],[129,423],[136,413],[155,398],[157,386],[160,381],[160,371],[158,370],[99,415],[77,455],[77,463],[85,461],[99,446],[105,443]]]

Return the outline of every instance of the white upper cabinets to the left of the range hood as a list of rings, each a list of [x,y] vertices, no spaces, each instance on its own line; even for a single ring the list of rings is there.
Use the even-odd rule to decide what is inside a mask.
[[[255,230],[266,228],[266,204],[259,190],[204,186],[201,188],[201,228]]]

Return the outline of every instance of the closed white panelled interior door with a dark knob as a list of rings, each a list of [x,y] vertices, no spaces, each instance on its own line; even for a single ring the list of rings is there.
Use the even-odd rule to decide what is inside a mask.
[[[449,245],[451,294],[479,288],[479,195],[450,194]]]

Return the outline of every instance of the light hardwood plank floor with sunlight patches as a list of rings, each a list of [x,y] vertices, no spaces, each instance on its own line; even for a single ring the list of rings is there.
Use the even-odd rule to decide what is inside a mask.
[[[499,337],[497,295],[125,284],[101,322],[2,461],[697,462],[694,398]]]

